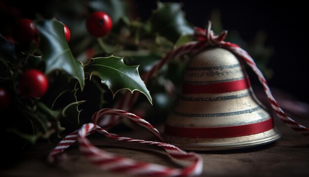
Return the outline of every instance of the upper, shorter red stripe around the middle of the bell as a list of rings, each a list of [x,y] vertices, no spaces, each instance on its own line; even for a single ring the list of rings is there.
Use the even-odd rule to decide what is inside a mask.
[[[250,87],[251,84],[249,81],[249,77],[246,77],[241,80],[224,82],[224,83],[214,83],[205,85],[184,84],[182,92],[183,94],[226,93],[231,91],[243,90]]]

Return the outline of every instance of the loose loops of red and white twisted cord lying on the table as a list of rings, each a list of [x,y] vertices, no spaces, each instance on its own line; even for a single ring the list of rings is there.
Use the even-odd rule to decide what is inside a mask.
[[[120,115],[133,121],[134,123],[146,128],[160,140],[163,140],[160,133],[144,119],[122,110],[117,109],[102,109],[95,113],[92,117],[92,123],[84,124],[79,130],[70,133],[52,150],[48,156],[49,162],[54,162],[57,156],[69,148],[74,142],[78,142],[79,150],[91,163],[98,168],[109,171],[119,172],[131,176],[155,176],[155,177],[178,177],[178,176],[197,176],[202,172],[203,160],[193,152],[185,152],[178,147],[155,141],[146,141],[140,139],[133,139],[129,137],[119,136],[114,133],[108,133],[103,128],[96,125],[97,121],[105,115]],[[125,142],[137,142],[143,144],[156,145],[163,148],[167,154],[181,163],[183,169],[172,169],[158,164],[139,162],[125,157],[115,156],[112,153],[106,152],[95,147],[87,138],[88,134],[98,132],[104,134],[106,137]]]

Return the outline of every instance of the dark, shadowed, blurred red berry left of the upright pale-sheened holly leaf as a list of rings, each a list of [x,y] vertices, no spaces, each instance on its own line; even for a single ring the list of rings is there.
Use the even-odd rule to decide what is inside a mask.
[[[37,29],[32,20],[22,18],[18,20],[12,29],[12,37],[17,43],[30,44],[38,40]]]

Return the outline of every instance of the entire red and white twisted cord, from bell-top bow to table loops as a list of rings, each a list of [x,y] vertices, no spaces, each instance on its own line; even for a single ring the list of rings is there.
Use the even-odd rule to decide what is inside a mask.
[[[227,31],[224,31],[220,35],[215,36],[213,34],[213,31],[211,31],[210,22],[206,30],[195,28],[195,37],[199,41],[184,44],[170,51],[164,58],[160,60],[159,63],[154,65],[154,67],[149,72],[145,73],[142,76],[142,79],[147,84],[149,80],[157,73],[157,71],[160,70],[160,68],[172,58],[176,58],[188,53],[191,54],[197,53],[210,45],[226,48],[230,50],[232,53],[234,53],[236,56],[238,56],[239,59],[247,63],[251,67],[251,69],[255,72],[269,98],[271,107],[275,112],[275,114],[293,130],[300,132],[304,135],[309,135],[308,128],[300,125],[299,123],[291,119],[280,108],[280,106],[278,105],[278,103],[271,94],[266,79],[264,78],[262,72],[256,66],[252,57],[238,45],[223,41],[226,35]],[[135,103],[138,95],[139,92],[136,91],[133,94],[131,94],[130,92],[125,93],[122,96],[120,102],[118,102],[118,104],[116,105],[117,108],[125,110],[131,108]],[[106,117],[104,118],[105,122],[102,123],[104,127],[109,128],[111,126],[116,125],[119,119],[115,116],[123,116],[132,120],[134,123],[143,126],[148,131],[153,133],[154,136],[160,139],[161,141],[163,140],[160,133],[144,119],[141,119],[140,117],[134,114],[119,109],[102,109],[93,115],[92,123],[85,124],[82,126],[81,129],[65,136],[65,138],[58,143],[55,149],[50,152],[48,156],[49,162],[54,162],[55,158],[57,158],[58,155],[60,155],[65,149],[70,147],[74,142],[78,141],[79,149],[82,152],[82,154],[85,157],[87,157],[92,163],[94,163],[99,168],[105,171],[122,172],[134,176],[164,176],[164,177],[194,176],[201,174],[202,158],[198,154],[192,152],[187,153],[174,145],[163,142],[132,139],[129,137],[119,136],[113,133],[108,133],[106,130],[97,125],[98,121],[102,120],[100,118],[105,115],[111,115],[112,117],[109,117],[109,119],[106,119]],[[90,141],[86,138],[86,136],[94,132],[102,133],[108,138],[119,141],[138,142],[138,143],[156,145],[163,148],[168,153],[168,155],[170,155],[172,159],[177,160],[177,162],[187,162],[186,164],[190,162],[191,164],[189,166],[185,166],[185,168],[183,169],[171,169],[157,164],[138,162],[128,158],[118,157],[101,149],[98,149],[93,144],[90,143]]]

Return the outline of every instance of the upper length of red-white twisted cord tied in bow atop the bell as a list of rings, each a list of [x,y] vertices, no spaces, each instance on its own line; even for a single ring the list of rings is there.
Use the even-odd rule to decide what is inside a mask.
[[[154,67],[142,75],[142,79],[147,84],[148,81],[154,76],[154,74],[157,73],[157,71],[170,59],[177,58],[184,54],[194,54],[197,53],[203,49],[205,49],[207,46],[218,46],[223,47],[228,50],[230,50],[233,54],[238,56],[239,59],[243,60],[246,64],[248,64],[251,69],[254,71],[254,73],[257,75],[260,83],[262,84],[265,93],[267,94],[267,97],[270,101],[271,107],[275,114],[290,128],[295,130],[296,132],[302,133],[304,135],[309,135],[309,129],[305,126],[300,125],[298,122],[294,121],[292,118],[290,118],[279,106],[279,104],[276,102],[274,97],[272,96],[272,93],[270,91],[270,88],[266,82],[266,79],[264,78],[262,72],[257,67],[256,63],[254,62],[253,58],[242,48],[240,48],[237,44],[232,44],[229,42],[225,42],[224,39],[227,35],[227,31],[223,31],[220,35],[215,36],[213,31],[211,30],[211,22],[208,22],[208,27],[206,30],[203,30],[201,28],[195,28],[195,37],[199,41],[197,42],[190,42],[184,45],[179,46],[178,48],[170,51],[164,58],[162,58]],[[135,91],[133,94],[131,92],[127,91],[120,99],[120,102],[116,105],[117,109],[124,109],[129,110],[134,103],[136,102],[136,99],[139,95],[139,92]],[[113,118],[112,118],[113,119]],[[114,120],[114,123],[117,120]]]

